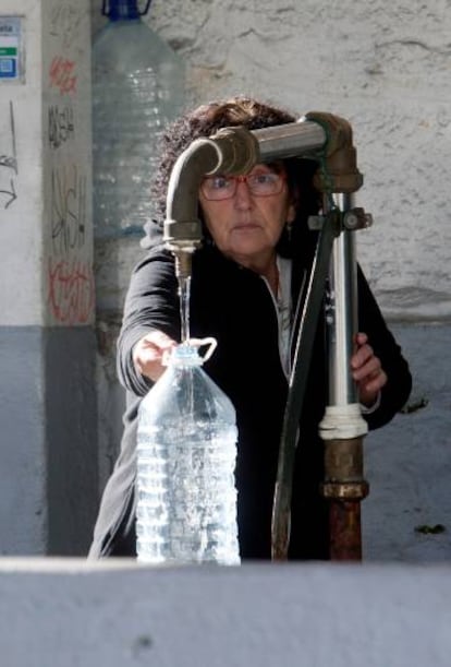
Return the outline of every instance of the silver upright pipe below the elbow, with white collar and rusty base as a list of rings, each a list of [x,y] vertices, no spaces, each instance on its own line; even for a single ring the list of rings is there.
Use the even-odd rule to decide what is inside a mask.
[[[352,194],[332,196],[342,214],[353,207]],[[320,434],[325,442],[322,493],[329,500],[330,558],[355,561],[362,559],[359,502],[368,493],[363,477],[363,436],[367,425],[351,371],[357,332],[357,265],[354,231],[345,227],[333,242],[326,326],[329,405]]]

